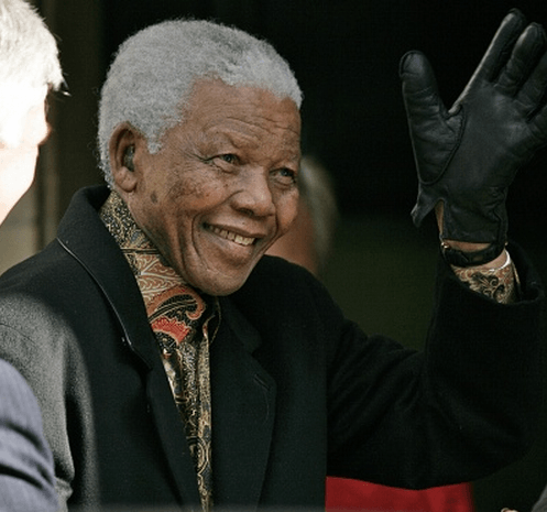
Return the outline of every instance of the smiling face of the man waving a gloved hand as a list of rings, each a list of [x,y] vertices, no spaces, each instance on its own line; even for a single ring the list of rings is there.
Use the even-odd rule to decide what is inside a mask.
[[[238,290],[297,213],[300,120],[272,92],[200,81],[184,121],[150,154],[134,155],[123,197],[136,221],[188,284]]]

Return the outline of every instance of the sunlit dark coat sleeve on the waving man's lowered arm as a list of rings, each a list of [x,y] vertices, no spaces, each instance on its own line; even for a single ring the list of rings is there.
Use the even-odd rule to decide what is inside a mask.
[[[70,328],[40,302],[21,294],[2,297],[0,304],[0,358],[21,373],[40,404],[45,439],[53,453],[58,510],[64,511],[73,501],[86,498],[79,489],[98,486],[90,455],[95,436],[83,357]],[[76,438],[79,442],[73,443]]]

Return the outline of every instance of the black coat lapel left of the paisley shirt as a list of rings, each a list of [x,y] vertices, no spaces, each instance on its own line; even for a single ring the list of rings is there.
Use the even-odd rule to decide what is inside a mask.
[[[182,503],[199,509],[196,471],[141,293],[123,254],[96,215],[108,193],[105,187],[85,193],[88,199],[81,193],[76,196],[70,205],[74,215],[65,216],[70,221],[59,226],[57,239],[84,265],[110,303],[123,333],[120,342],[132,350],[144,372],[150,411]],[[83,237],[83,232],[87,236]]]

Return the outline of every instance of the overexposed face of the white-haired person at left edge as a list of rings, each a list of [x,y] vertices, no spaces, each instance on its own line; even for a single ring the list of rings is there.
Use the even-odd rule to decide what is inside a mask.
[[[32,185],[39,146],[48,130],[44,100],[28,111],[17,146],[7,146],[0,141],[0,224]]]

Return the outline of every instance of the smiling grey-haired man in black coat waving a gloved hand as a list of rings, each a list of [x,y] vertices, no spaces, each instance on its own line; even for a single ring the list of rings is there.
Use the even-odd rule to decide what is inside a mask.
[[[519,456],[543,292],[503,203],[547,139],[543,37],[510,13],[450,113],[425,58],[403,61],[415,216],[442,225],[424,353],[263,258],[298,204],[300,91],[274,50],[205,21],[130,37],[101,94],[109,187],[0,281],[0,355],[39,395],[62,502],[322,508],[326,475],[420,488]]]

